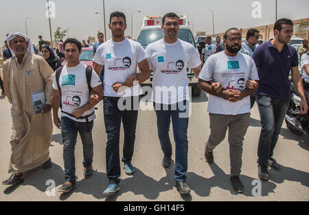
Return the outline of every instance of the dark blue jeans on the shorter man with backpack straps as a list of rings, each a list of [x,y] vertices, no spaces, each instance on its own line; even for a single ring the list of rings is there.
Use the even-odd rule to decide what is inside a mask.
[[[75,145],[78,132],[82,140],[84,153],[84,167],[91,166],[93,160],[93,141],[92,141],[93,121],[87,123],[76,122],[65,116],[61,117],[61,136],[63,142],[63,161],[65,164],[65,181],[76,181],[75,177]]]

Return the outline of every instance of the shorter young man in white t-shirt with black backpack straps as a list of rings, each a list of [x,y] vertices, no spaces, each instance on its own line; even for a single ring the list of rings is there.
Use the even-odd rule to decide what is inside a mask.
[[[56,70],[53,88],[54,124],[61,128],[63,142],[63,161],[65,164],[65,184],[59,192],[69,192],[75,188],[75,145],[77,134],[80,134],[84,153],[84,177],[93,174],[93,140],[92,128],[95,118],[94,106],[103,97],[101,81],[89,66],[79,61],[82,44],[73,38],[64,43],[67,64]],[[87,74],[88,73],[88,74]],[[89,77],[91,80],[89,81]],[[94,103],[89,103],[89,94],[93,90],[98,94]],[[59,106],[62,106],[61,120],[58,117]]]

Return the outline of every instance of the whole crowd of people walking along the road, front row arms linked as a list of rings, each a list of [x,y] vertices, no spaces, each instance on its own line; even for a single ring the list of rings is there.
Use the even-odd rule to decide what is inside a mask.
[[[9,169],[12,175],[3,184],[20,184],[25,171],[41,165],[46,169],[52,166],[49,144],[53,121],[61,129],[63,142],[65,183],[59,191],[69,192],[76,187],[74,150],[78,133],[84,152],[84,177],[91,177],[94,107],[103,100],[107,134],[106,176],[109,181],[103,193],[115,194],[120,188],[120,127],[124,127],[124,170],[127,175],[133,175],[132,158],[138,116],[135,104],[139,103],[141,95],[139,84],[146,81],[152,71],[152,102],[163,152],[161,165],[163,168],[171,165],[169,129],[172,123],[176,188],[181,194],[190,193],[190,186],[186,183],[190,96],[183,90],[188,86],[187,67],[198,77],[198,86],[209,94],[207,112],[210,134],[205,142],[205,160],[210,165],[214,163],[214,149],[225,139],[228,131],[231,184],[236,192],[244,192],[240,180],[242,145],[249,127],[250,109],[256,101],[262,124],[257,143],[258,177],[267,181],[268,168],[280,170],[273,152],[288,109],[290,71],[301,97],[300,112],[306,114],[308,110],[298,71],[297,51],[288,45],[293,35],[292,21],[279,19],[274,25],[275,38],[258,47],[258,30],[249,30],[246,40],[242,42],[239,29],[228,29],[223,36],[224,49],[220,37],[216,45],[211,45],[211,38],[206,38],[207,45],[202,55],[192,45],[177,38],[179,18],[172,12],[162,18],[164,37],[146,49],[124,36],[124,13],[113,12],[108,27],[112,33],[111,40],[104,42],[104,35],[100,33],[98,44],[93,46],[93,69],[79,61],[82,47],[87,46],[85,40],[81,43],[68,38],[59,43],[58,52],[63,53],[67,60],[67,64],[60,66],[56,53],[43,40],[39,42],[42,58],[34,54],[26,35],[12,32],[7,36],[13,57],[3,64],[3,82],[8,101],[12,103]],[[302,59],[305,55],[307,58],[308,47],[301,51]],[[308,69],[308,62],[305,67]],[[28,71],[29,68],[32,70]],[[30,76],[32,79],[29,79]],[[170,93],[168,88],[173,86],[181,87],[181,90]],[[34,101],[34,92],[43,93],[43,104]]]

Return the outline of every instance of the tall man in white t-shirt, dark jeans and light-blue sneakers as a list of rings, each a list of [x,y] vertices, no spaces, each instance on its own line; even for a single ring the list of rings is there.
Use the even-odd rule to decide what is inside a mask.
[[[95,62],[94,69],[98,75],[102,71],[102,66],[105,66],[103,103],[107,133],[106,175],[109,185],[104,190],[104,194],[111,195],[119,190],[119,132],[121,122],[124,126],[122,162],[124,162],[127,175],[132,175],[135,171],[131,160],[134,151],[141,89],[139,85],[133,86],[133,79],[137,79],[139,84],[146,81],[150,77],[150,70],[143,47],[138,42],[124,37],[124,30],[126,29],[124,13],[113,12],[108,27],[111,29],[112,38],[98,47],[93,62]],[[139,74],[136,74],[137,65],[141,71]],[[123,88],[126,86],[130,88],[124,90]],[[117,93],[118,90],[124,91]]]

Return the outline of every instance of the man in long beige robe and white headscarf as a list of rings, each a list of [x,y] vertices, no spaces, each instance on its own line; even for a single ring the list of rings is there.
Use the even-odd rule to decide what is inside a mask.
[[[32,43],[25,34],[7,37],[13,57],[3,63],[3,83],[12,104],[12,154],[9,173],[2,182],[23,182],[22,173],[41,166],[51,168],[49,144],[52,137],[52,68],[44,58],[34,55]],[[42,122],[44,125],[42,126]]]

